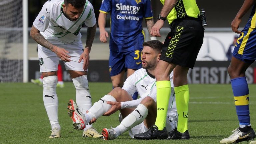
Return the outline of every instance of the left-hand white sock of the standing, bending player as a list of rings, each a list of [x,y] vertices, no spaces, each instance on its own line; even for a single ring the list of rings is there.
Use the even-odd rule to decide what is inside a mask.
[[[58,121],[59,102],[56,94],[57,79],[57,76],[48,76],[43,78],[43,100],[52,128],[58,127],[60,129]]]

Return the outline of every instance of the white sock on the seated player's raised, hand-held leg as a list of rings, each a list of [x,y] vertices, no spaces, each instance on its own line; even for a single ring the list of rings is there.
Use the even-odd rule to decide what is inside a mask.
[[[116,99],[111,95],[105,95],[99,101],[95,102],[93,106],[89,109],[89,112],[87,113],[91,119],[98,119],[105,112],[110,110],[111,105],[107,104],[107,101],[116,102]]]

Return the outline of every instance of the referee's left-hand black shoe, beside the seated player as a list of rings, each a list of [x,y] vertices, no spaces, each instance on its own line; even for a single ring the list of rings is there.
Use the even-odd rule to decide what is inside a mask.
[[[158,130],[156,125],[153,125],[149,128],[148,131],[140,134],[136,134],[133,136],[135,139],[143,139],[143,140],[149,140],[149,139],[166,139],[168,137],[168,132],[166,128],[164,127],[163,130]]]

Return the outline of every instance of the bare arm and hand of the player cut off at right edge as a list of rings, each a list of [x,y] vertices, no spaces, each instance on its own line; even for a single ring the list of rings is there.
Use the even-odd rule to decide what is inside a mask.
[[[241,31],[238,31],[239,24],[241,23],[242,17],[247,13],[247,11],[252,7],[252,5],[255,3],[255,0],[245,0],[242,7],[236,14],[236,17],[231,22],[231,28],[232,31],[235,33],[241,33]]]

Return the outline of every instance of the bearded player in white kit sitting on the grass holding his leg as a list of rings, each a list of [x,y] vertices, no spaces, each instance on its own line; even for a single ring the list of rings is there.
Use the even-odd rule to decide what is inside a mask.
[[[144,42],[142,68],[126,79],[123,88],[114,88],[98,102],[94,103],[86,114],[82,114],[75,102],[70,100],[68,109],[74,128],[82,130],[88,123],[94,123],[100,116],[109,116],[118,110],[120,110],[124,119],[116,128],[104,128],[102,130],[105,140],[115,139],[128,130],[130,130],[129,135],[133,138],[133,135],[143,133],[153,126],[157,114],[156,79],[154,74],[162,45],[158,40]],[[170,79],[173,86],[172,75],[171,73]],[[136,91],[141,98],[133,100],[132,95]],[[172,90],[169,99],[166,120],[166,129],[171,134],[172,130],[177,127],[174,90]]]

